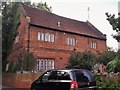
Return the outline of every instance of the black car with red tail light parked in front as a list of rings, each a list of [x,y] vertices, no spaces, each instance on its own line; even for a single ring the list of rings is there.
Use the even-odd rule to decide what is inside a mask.
[[[96,81],[85,69],[49,70],[31,84],[31,90],[96,90]]]

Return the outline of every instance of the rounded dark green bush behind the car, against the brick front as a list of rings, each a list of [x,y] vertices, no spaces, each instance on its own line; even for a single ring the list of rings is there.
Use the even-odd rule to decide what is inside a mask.
[[[94,54],[90,51],[73,52],[66,68],[82,68],[92,70]]]

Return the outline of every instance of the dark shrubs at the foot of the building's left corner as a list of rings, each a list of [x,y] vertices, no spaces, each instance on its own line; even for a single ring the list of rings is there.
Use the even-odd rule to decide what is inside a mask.
[[[35,69],[36,60],[32,53],[19,54],[18,61],[15,63],[12,60],[9,62],[8,72],[16,73],[17,71],[32,71]]]

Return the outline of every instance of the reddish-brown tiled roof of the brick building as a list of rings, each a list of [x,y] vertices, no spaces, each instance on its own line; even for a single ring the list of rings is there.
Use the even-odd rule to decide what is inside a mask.
[[[30,24],[32,25],[106,40],[106,36],[88,21],[82,22],[65,18],[24,4],[21,4],[21,7],[24,15],[31,17]]]

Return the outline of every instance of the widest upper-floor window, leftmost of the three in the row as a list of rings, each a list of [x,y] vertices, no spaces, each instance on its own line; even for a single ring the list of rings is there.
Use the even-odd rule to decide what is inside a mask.
[[[46,42],[54,42],[54,34],[38,32],[38,40]]]

